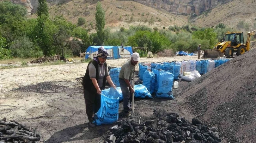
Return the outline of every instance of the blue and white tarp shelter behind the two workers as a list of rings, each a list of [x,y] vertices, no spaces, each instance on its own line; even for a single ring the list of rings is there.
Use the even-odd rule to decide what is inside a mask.
[[[98,48],[101,46],[89,46],[86,49],[86,54],[97,54]],[[131,46],[121,47],[121,46],[103,46],[108,52],[108,59],[119,59],[119,58],[129,58],[133,54],[133,49]],[[93,58],[93,55],[86,55],[85,59]]]

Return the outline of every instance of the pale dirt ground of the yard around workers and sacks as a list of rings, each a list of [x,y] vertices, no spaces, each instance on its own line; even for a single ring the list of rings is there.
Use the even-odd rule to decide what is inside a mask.
[[[141,62],[163,62],[196,60],[196,56],[141,58]],[[108,60],[108,66],[121,67],[127,59]],[[96,128],[88,127],[85,113],[83,88],[77,77],[84,76],[87,63],[62,64],[53,66],[37,66],[25,68],[1,69],[0,84],[4,92],[0,93],[0,118],[15,119],[30,128],[38,126],[41,141],[45,143],[96,143],[102,142],[104,133],[113,125]],[[138,66],[136,67],[138,70]],[[182,82],[180,84],[182,87]],[[179,88],[181,89],[181,88]],[[173,95],[176,98],[176,92]],[[120,102],[120,120],[123,104]],[[176,112],[189,121],[193,115],[188,108],[177,100],[136,99],[135,115],[147,120],[153,110]]]

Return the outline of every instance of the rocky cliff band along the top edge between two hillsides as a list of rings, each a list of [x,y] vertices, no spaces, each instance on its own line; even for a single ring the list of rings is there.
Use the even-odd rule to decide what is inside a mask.
[[[232,0],[133,0],[143,5],[164,9],[173,14],[196,14],[214,8],[219,3]]]

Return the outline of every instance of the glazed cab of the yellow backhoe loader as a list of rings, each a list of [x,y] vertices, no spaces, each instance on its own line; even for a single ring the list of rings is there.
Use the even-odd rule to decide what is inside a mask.
[[[237,37],[236,38],[236,41],[234,41],[234,38],[235,36]],[[231,45],[232,46],[237,46],[239,43],[244,43],[244,35],[243,35],[243,32],[237,32],[237,33],[227,33],[225,35],[225,41],[231,41]]]

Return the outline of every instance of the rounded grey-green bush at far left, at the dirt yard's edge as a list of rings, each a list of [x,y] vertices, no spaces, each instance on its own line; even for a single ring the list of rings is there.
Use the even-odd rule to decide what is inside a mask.
[[[42,50],[35,46],[26,36],[15,40],[10,46],[10,50],[14,57],[29,58],[43,56]]]

